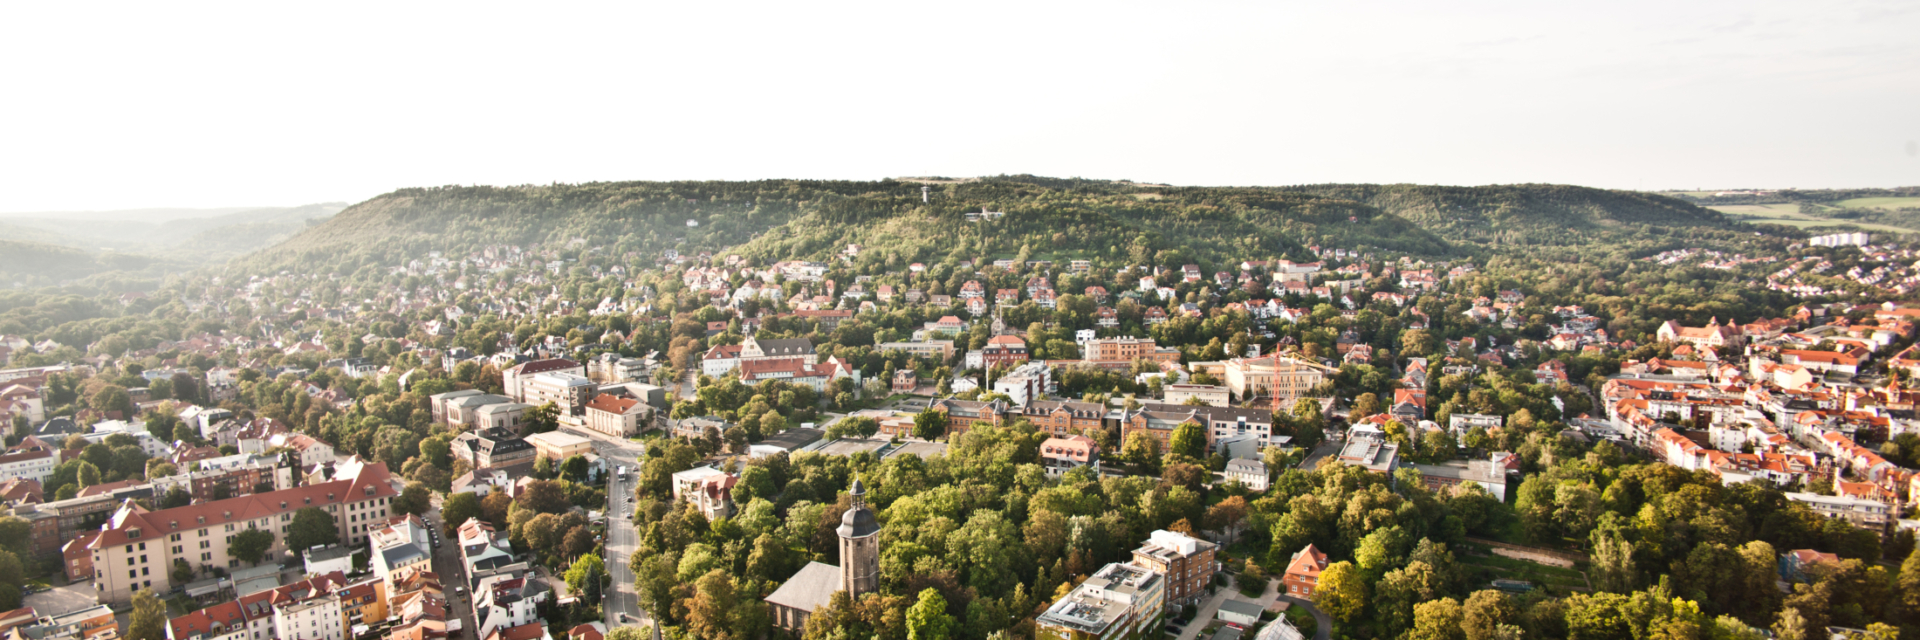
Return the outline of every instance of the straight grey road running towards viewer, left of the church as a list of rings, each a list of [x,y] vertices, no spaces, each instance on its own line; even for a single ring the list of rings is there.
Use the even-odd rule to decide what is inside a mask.
[[[653,627],[653,638],[660,638],[659,625],[653,625],[653,617],[639,607],[639,592],[634,590],[634,569],[630,565],[634,548],[639,544],[639,536],[634,532],[634,505],[628,498],[634,496],[634,486],[639,482],[639,459],[645,457],[647,448],[632,440],[616,440],[601,432],[572,431],[593,440],[593,452],[607,461],[607,575],[612,577],[612,588],[601,600],[601,617],[607,627],[620,627],[632,623],[645,623]],[[620,480],[616,467],[626,467],[626,480]]]

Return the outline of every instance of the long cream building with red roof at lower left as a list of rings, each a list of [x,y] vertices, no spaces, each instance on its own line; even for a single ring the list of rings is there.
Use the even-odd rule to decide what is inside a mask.
[[[269,557],[278,557],[286,552],[294,513],[305,507],[332,515],[344,544],[365,544],[367,532],[376,521],[386,521],[399,492],[384,463],[349,471],[353,473],[330,482],[186,507],[148,511],[138,504],[125,504],[90,544],[94,590],[100,602],[127,603],[140,588],[171,590],[167,575],[175,559],[196,567],[240,567],[227,546],[248,529],[271,530],[275,538]]]

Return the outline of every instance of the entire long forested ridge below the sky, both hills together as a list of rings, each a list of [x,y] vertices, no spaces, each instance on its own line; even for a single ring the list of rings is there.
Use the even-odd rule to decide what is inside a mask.
[[[922,202],[922,186],[929,202]],[[972,211],[1004,217],[970,221]],[[1663,240],[1728,233],[1711,209],[1640,192],[1563,185],[1167,186],[1002,175],[927,181],[589,183],[403,188],[236,259],[238,273],[353,273],[442,250],[568,242],[758,259],[824,259],[847,244],[879,259],[1110,259],[1125,263],[1306,258],[1311,244],[1415,256],[1486,248]],[[1630,242],[1645,244],[1645,242]]]

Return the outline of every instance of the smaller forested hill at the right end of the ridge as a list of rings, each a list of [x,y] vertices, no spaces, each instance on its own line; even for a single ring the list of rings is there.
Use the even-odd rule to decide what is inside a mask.
[[[1302,185],[1281,190],[1363,202],[1452,242],[1490,248],[1615,244],[1734,227],[1720,211],[1678,198],[1571,185]]]

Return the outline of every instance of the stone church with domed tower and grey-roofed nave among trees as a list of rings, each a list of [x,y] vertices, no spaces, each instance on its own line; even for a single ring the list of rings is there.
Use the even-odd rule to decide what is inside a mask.
[[[866,505],[866,484],[852,480],[852,507],[841,515],[839,548],[841,565],[806,563],[787,582],[780,584],[766,603],[772,605],[774,625],[793,632],[806,628],[806,619],[833,600],[833,592],[847,592],[854,600],[879,590],[879,519]]]

